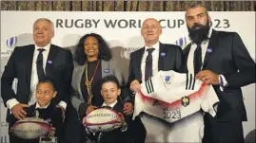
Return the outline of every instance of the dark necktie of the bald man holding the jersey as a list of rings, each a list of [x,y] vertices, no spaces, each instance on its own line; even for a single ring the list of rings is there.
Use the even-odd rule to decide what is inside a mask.
[[[145,66],[145,80],[148,80],[152,75],[153,75],[153,71],[152,71],[152,52],[155,50],[155,48],[148,48],[148,57],[146,59],[146,66]]]

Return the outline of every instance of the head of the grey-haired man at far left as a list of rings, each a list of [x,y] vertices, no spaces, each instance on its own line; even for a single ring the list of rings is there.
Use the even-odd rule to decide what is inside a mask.
[[[36,21],[33,25],[33,40],[35,45],[43,47],[49,45],[54,36],[51,23],[46,20]]]

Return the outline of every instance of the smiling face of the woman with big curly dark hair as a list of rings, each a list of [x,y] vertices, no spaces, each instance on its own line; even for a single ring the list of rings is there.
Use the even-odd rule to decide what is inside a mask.
[[[84,49],[85,49],[85,53],[89,58],[97,59],[99,54],[99,41],[95,37],[89,36],[85,40]]]

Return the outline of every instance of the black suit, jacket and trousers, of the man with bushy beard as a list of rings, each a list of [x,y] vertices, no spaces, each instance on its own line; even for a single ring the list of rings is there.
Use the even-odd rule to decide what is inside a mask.
[[[255,82],[255,63],[236,32],[212,30],[207,46],[203,70],[224,75],[227,87],[224,92],[214,85],[220,103],[217,116],[205,116],[205,142],[243,142],[242,121],[246,121],[246,108],[241,86]],[[185,62],[190,45],[184,49]],[[187,64],[186,64],[187,65]],[[239,70],[239,72],[237,72]]]

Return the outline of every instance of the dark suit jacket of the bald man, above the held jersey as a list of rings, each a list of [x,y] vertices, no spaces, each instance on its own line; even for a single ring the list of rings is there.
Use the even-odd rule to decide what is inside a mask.
[[[164,70],[164,71],[174,70],[176,72],[182,72],[183,55],[182,55],[181,47],[178,45],[167,45],[167,44],[161,44],[161,43],[159,43],[159,45],[160,45],[159,46],[160,49],[159,49],[158,70]],[[145,51],[145,47],[130,53],[128,87],[132,80],[139,80],[140,82],[142,81],[141,62],[142,62],[144,51]]]

